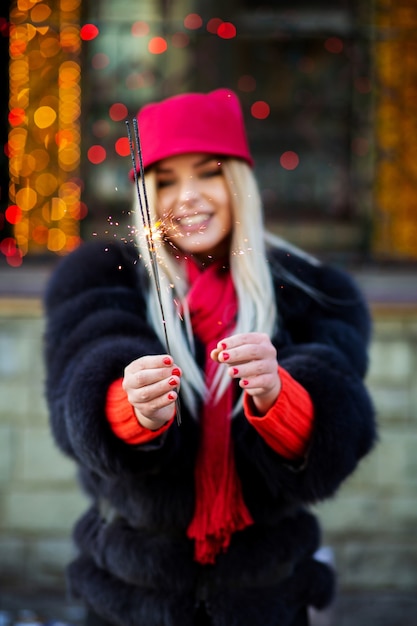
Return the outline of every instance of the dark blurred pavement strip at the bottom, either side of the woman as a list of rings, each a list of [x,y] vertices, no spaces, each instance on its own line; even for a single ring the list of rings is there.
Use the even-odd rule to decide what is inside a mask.
[[[83,618],[82,605],[61,591],[0,589],[0,626],[82,626]],[[330,609],[311,611],[310,621],[311,626],[417,626],[417,592],[344,591]]]

